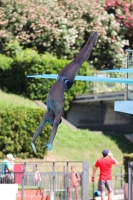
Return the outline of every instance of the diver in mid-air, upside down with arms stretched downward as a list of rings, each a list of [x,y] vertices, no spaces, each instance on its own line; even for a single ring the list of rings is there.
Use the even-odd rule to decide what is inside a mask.
[[[52,127],[49,142],[44,146],[48,151],[52,150],[52,144],[57,132],[58,125],[61,123],[61,117],[64,109],[64,92],[72,87],[74,79],[81,65],[89,59],[93,46],[96,45],[98,33],[92,32],[84,47],[81,49],[76,58],[65,66],[58,74],[56,82],[51,87],[47,96],[47,112],[44,114],[32,139],[32,148],[36,152],[35,141],[43,130],[46,122]]]

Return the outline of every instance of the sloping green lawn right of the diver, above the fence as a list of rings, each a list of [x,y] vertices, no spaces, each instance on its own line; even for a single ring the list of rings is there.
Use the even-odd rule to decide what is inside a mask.
[[[133,152],[133,144],[122,134],[105,135],[102,132],[88,130],[73,131],[65,124],[58,128],[53,151],[56,160],[89,160],[93,165],[101,157],[103,149],[109,149],[120,164],[123,163],[123,153]]]

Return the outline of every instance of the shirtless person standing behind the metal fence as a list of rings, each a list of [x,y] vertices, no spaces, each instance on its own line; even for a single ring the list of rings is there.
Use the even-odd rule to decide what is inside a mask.
[[[76,200],[79,200],[79,186],[80,186],[80,175],[78,173],[76,173],[76,167],[72,166],[71,167],[71,174],[70,174],[70,181],[71,181],[71,185],[69,188],[69,200],[72,200],[72,191],[75,190],[76,193]]]

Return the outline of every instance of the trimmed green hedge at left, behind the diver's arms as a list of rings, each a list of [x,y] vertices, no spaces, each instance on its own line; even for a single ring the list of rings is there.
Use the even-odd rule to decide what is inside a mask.
[[[18,158],[44,158],[51,127],[46,124],[42,133],[37,138],[35,154],[31,147],[33,134],[40,123],[45,111],[40,108],[0,105],[0,159],[6,154],[13,153]]]

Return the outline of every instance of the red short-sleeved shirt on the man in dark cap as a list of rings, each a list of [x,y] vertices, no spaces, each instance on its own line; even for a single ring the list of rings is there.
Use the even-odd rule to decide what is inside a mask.
[[[112,180],[112,165],[115,161],[110,158],[100,158],[96,161],[95,167],[100,168],[99,180]]]

